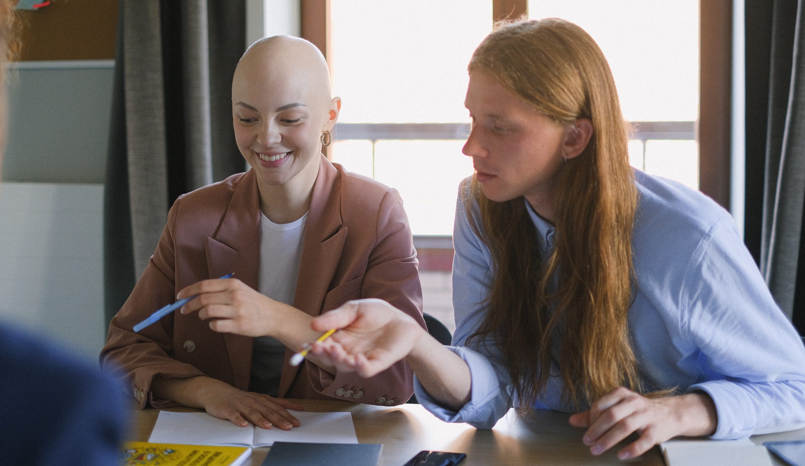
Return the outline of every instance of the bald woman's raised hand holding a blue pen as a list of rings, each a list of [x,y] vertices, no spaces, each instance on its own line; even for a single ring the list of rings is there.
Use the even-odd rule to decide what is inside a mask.
[[[272,323],[278,320],[272,314],[281,312],[284,306],[236,278],[202,280],[184,288],[176,297],[195,295],[198,296],[182,306],[181,313],[198,311],[201,319],[210,319],[210,329],[247,337],[274,336]]]

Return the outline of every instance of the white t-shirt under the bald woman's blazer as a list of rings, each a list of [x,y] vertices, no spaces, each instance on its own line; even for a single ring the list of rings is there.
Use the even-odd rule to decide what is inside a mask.
[[[291,223],[271,222],[260,212],[258,291],[273,300],[294,304],[302,241],[308,214]],[[254,338],[249,390],[277,396],[285,345],[272,337]]]

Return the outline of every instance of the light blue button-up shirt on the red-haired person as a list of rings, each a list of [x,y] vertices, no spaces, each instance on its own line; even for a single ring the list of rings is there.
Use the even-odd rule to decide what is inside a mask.
[[[732,217],[677,182],[641,171],[636,178],[640,199],[632,260],[637,292],[629,329],[644,386],[709,394],[718,414],[714,439],[805,426],[803,341],[774,303]],[[472,398],[455,412],[435,403],[418,380],[415,392],[440,419],[491,428],[516,397],[494,341],[465,346],[485,313],[479,303],[491,282],[491,257],[469,226],[463,198],[468,198],[465,189],[453,232],[456,334],[448,348],[469,366]],[[547,258],[554,228],[530,206],[528,211]],[[477,205],[473,215],[479,215]],[[562,401],[563,388],[561,378],[549,378],[537,407],[574,411]]]

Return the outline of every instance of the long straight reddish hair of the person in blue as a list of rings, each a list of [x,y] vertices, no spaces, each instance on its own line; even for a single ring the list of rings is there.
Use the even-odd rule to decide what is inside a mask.
[[[559,125],[589,118],[593,133],[584,152],[559,169],[547,261],[523,198],[493,202],[473,178],[481,215],[474,220],[467,202],[468,216],[491,252],[493,280],[484,321],[469,341],[496,341],[525,409],[545,389],[552,362],[574,407],[618,386],[640,390],[627,321],[638,192],[609,64],[580,27],[547,18],[497,27],[473,53],[469,72],[476,70]]]

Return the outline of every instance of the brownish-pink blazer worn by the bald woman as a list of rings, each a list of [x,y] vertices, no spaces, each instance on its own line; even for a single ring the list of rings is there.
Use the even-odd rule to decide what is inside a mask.
[[[376,297],[425,327],[422,289],[411,229],[396,190],[345,172],[322,157],[313,186],[294,306],[312,316],[347,300]],[[101,366],[121,370],[141,407],[151,381],[208,375],[248,390],[252,338],[216,333],[193,313],[171,313],[134,333],[132,327],[175,301],[190,284],[234,272],[258,288],[260,209],[254,171],[236,174],[176,199],[145,272],[112,319]],[[311,362],[288,364],[286,350],[279,396],[405,403],[413,393],[404,361],[373,378],[333,377]]]

